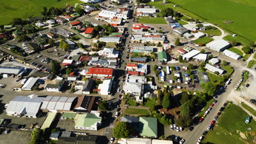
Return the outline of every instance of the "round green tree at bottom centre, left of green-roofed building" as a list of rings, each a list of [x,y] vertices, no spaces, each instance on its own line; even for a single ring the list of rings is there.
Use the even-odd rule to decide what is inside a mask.
[[[113,129],[113,136],[117,139],[120,138],[126,138],[131,136],[133,131],[133,127],[130,123],[127,122],[119,122],[117,125],[115,125]]]

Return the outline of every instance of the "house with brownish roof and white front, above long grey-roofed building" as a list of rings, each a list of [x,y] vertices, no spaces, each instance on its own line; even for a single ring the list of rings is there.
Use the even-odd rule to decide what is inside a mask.
[[[47,83],[44,86],[44,89],[46,92],[60,92],[60,89],[62,88],[64,83],[65,81],[62,77],[57,77],[54,81]]]

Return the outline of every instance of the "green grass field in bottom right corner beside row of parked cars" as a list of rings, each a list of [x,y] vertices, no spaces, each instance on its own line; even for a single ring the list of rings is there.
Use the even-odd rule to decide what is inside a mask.
[[[215,124],[213,130],[208,131],[205,139],[202,143],[234,143],[234,144],[246,144],[253,143],[253,137],[255,136],[256,123],[252,119],[250,123],[245,123],[247,113],[240,107],[229,104],[226,106],[222,115],[218,119],[218,123]],[[252,128],[252,130],[248,130]],[[247,136],[247,140],[243,140],[240,133]]]

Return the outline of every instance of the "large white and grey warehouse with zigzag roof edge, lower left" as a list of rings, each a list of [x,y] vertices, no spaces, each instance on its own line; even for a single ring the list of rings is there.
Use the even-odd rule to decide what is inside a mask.
[[[8,116],[37,118],[43,99],[43,97],[38,97],[35,94],[28,95],[27,97],[16,96],[10,101],[5,111]]]

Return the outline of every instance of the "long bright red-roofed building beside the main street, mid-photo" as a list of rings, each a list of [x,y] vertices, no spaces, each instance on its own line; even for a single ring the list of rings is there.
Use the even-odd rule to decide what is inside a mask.
[[[88,76],[97,76],[101,78],[112,77],[113,69],[112,68],[89,68]]]

